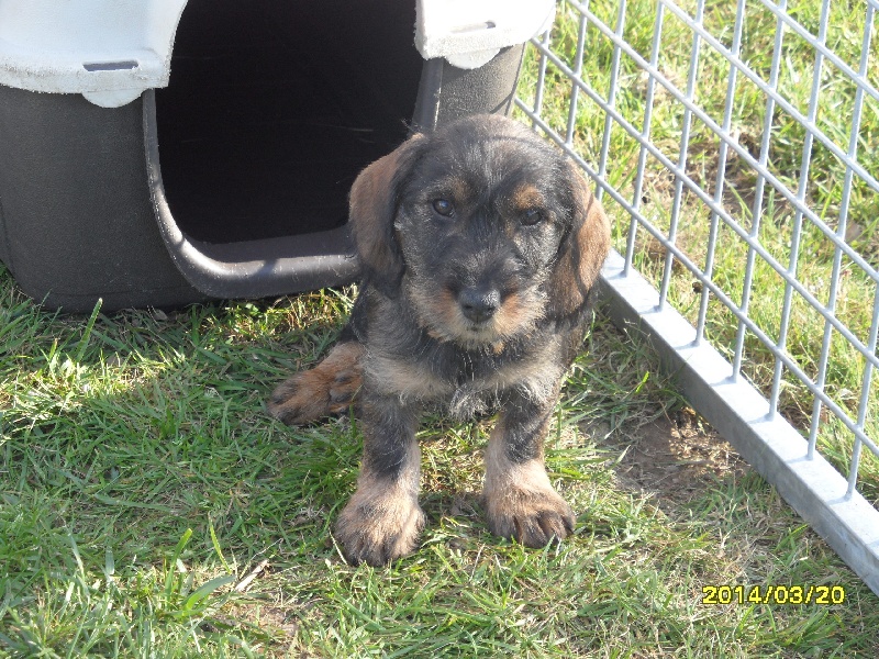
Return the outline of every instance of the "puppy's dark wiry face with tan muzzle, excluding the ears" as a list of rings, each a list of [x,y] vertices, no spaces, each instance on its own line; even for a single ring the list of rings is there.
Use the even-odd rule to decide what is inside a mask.
[[[543,316],[571,213],[561,171],[530,133],[458,127],[425,145],[401,187],[394,228],[421,325],[477,346]]]

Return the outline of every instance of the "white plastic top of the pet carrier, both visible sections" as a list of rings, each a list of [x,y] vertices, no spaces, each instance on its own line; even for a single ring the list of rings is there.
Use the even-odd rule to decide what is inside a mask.
[[[168,85],[186,3],[0,0],[0,85],[81,93],[104,108],[130,103],[146,89]],[[416,0],[416,14],[422,57],[478,68],[500,48],[548,29],[555,0]]]

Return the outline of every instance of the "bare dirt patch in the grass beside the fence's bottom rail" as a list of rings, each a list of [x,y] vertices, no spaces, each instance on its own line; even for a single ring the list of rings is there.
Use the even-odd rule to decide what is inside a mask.
[[[622,438],[622,437],[620,437]],[[626,433],[626,453],[616,467],[621,484],[683,503],[717,478],[741,478],[750,467],[689,409]]]

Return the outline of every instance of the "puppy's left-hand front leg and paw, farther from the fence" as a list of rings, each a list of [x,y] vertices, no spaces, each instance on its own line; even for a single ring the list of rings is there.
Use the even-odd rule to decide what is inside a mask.
[[[364,457],[357,491],[335,527],[345,558],[353,563],[386,565],[416,547],[424,527],[418,501],[419,413],[399,396],[363,392]]]

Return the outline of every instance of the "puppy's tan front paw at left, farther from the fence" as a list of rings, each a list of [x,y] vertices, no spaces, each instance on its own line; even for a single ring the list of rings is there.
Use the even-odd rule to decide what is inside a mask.
[[[348,562],[378,567],[412,554],[424,521],[411,494],[392,487],[358,488],[340,514],[335,533]]]

